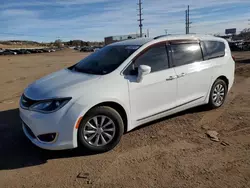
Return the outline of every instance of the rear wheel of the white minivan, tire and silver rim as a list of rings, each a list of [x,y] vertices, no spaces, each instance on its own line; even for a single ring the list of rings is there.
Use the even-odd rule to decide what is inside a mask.
[[[219,88],[221,88],[221,87],[222,87],[222,89],[220,90]],[[227,90],[228,90],[228,88],[227,88],[226,82],[224,80],[217,79],[211,88],[208,106],[211,109],[216,109],[216,108],[221,107],[225,102],[225,99],[227,96]],[[217,95],[216,95],[216,93],[217,93]],[[218,94],[218,93],[220,93],[220,94]],[[222,95],[222,93],[224,95]],[[223,99],[220,98],[218,101],[216,101],[216,99],[218,99],[219,96],[223,97]]]

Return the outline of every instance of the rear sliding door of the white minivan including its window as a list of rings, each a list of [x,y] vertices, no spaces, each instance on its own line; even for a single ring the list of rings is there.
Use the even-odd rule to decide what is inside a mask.
[[[177,106],[204,101],[213,70],[211,61],[203,60],[199,42],[172,42],[171,57],[177,75]]]

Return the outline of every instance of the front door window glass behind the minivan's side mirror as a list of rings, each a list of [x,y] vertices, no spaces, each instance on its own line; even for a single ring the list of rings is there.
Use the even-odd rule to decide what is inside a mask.
[[[130,64],[124,74],[130,74],[134,70],[137,70],[140,65],[150,66],[151,72],[169,68],[166,44],[157,44],[150,47]]]

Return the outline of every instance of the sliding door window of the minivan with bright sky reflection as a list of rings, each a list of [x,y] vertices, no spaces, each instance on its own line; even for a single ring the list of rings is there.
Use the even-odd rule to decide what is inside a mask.
[[[175,66],[203,61],[199,44],[174,44],[171,49]]]

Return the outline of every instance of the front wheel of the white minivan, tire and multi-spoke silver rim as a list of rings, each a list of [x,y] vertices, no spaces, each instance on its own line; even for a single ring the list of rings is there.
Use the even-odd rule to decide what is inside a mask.
[[[120,142],[123,132],[124,124],[120,114],[111,107],[98,106],[84,116],[78,130],[78,143],[92,152],[106,152]]]

